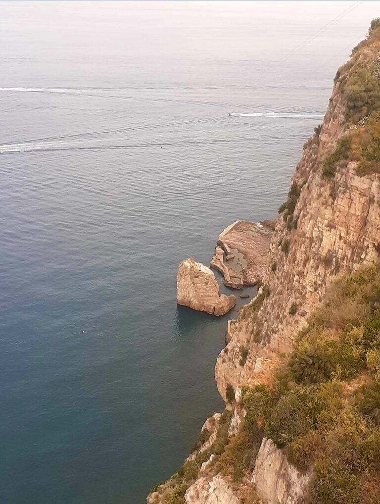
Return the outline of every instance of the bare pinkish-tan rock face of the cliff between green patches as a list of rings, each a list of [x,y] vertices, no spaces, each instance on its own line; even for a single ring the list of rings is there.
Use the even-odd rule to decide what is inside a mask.
[[[271,369],[279,352],[291,349],[295,335],[337,275],[378,257],[374,248],[380,239],[378,174],[358,176],[358,163],[351,161],[338,167],[333,179],[323,175],[326,156],[350,131],[342,93],[345,79],[343,74],[336,80],[321,131],[305,144],[293,175],[292,222],[289,226],[284,213],[278,217],[263,276],[262,305],[257,311],[241,310],[229,324],[229,343],[215,369],[222,397],[228,384],[235,390],[255,383],[258,373]],[[249,349],[244,366],[239,364],[241,347]]]

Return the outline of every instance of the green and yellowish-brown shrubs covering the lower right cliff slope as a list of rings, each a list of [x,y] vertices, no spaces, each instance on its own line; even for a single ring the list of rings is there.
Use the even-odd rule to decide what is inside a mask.
[[[273,381],[242,389],[224,474],[249,474],[265,434],[300,471],[314,468],[313,504],[380,503],[379,308],[380,266],[334,285]]]

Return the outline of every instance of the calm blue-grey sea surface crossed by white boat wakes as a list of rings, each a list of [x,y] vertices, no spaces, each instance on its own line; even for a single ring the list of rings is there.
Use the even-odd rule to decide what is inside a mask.
[[[143,504],[180,465],[227,318],[176,305],[177,265],[276,216],[379,12],[1,3],[2,503]]]

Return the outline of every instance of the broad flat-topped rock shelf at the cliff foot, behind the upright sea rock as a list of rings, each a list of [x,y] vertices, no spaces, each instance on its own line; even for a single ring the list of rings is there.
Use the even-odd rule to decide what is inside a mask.
[[[211,267],[223,274],[224,285],[241,289],[262,280],[273,234],[271,223],[236,221],[219,235]]]

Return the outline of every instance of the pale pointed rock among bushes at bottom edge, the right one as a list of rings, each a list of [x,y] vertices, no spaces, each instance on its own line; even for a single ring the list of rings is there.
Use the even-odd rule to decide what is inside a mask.
[[[266,504],[304,504],[310,474],[300,473],[271,439],[264,438],[251,481]]]

